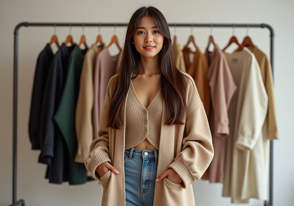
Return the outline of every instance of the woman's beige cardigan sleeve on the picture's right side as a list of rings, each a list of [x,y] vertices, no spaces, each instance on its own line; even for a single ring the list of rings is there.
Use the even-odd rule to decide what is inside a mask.
[[[189,77],[190,79],[190,77]],[[182,151],[178,153],[168,168],[173,168],[183,180],[183,188],[200,179],[213,158],[213,145],[206,112],[195,83],[188,93],[185,137]]]

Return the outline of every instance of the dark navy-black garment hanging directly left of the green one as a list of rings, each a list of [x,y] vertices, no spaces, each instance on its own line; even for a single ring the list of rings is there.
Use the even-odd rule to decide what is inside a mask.
[[[67,47],[64,43],[60,46],[51,62],[44,91],[40,122],[41,154],[39,162],[48,165],[46,178],[50,183],[62,184],[63,181],[67,181],[66,176],[68,176],[69,152],[66,151],[64,139],[53,116],[61,100],[69,55],[74,46]]]

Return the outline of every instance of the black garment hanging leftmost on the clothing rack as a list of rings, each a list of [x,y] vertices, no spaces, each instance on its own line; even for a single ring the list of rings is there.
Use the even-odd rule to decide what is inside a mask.
[[[43,93],[47,80],[47,75],[50,68],[50,63],[54,55],[50,45],[47,43],[45,48],[40,52],[31,96],[31,109],[29,117],[29,137],[32,144],[32,149],[40,149],[40,114],[43,100]]]

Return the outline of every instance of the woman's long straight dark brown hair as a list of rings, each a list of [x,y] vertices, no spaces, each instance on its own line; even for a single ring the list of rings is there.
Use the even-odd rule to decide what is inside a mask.
[[[171,51],[171,34],[169,32],[168,23],[163,14],[155,7],[141,7],[131,17],[126,31],[126,40],[123,47],[120,66],[118,67],[118,76],[116,77],[113,95],[110,97],[109,113],[107,118],[107,126],[118,129],[122,125],[120,111],[122,104],[128,92],[131,76],[135,71],[136,78],[142,73],[140,69],[140,54],[136,50],[133,41],[133,35],[138,27],[141,17],[151,16],[154,23],[160,29],[164,36],[165,42],[161,51],[158,53],[158,64],[161,68],[161,93],[163,102],[167,108],[168,125],[184,124],[183,119],[186,114],[186,79],[175,66],[173,54]]]

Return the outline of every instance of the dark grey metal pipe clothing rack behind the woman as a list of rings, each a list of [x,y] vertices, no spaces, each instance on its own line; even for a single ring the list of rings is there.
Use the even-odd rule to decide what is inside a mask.
[[[10,206],[17,206],[17,205],[25,205],[23,199],[16,201],[16,186],[17,186],[17,75],[18,75],[18,36],[19,36],[19,29],[22,26],[36,26],[36,27],[43,27],[43,26],[91,26],[91,27],[126,27],[127,23],[39,23],[39,22],[21,22],[16,25],[14,29],[14,75],[13,75],[13,188],[12,188],[12,204]],[[274,72],[274,30],[268,24],[218,24],[218,23],[169,23],[171,27],[227,27],[227,28],[235,28],[235,27],[255,27],[255,28],[268,28],[270,31],[270,63],[272,66],[272,72]],[[264,206],[273,206],[273,140],[270,141],[270,174],[269,174],[269,200],[264,202]]]

